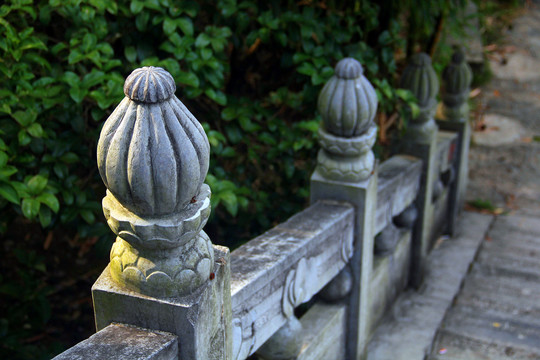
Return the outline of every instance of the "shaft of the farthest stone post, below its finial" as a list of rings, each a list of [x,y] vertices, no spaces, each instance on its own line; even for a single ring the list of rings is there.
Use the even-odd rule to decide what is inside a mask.
[[[465,202],[465,192],[467,191],[467,177],[469,174],[469,144],[471,140],[471,127],[468,121],[446,121],[439,120],[437,125],[441,130],[453,131],[458,134],[456,159],[452,167],[456,177],[450,185],[450,194],[448,204],[450,214],[448,226],[445,230],[449,235],[454,236],[456,232],[457,216],[463,209]]]

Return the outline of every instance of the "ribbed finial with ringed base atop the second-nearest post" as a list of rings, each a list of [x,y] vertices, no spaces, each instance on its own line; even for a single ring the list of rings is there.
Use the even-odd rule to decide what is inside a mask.
[[[373,170],[377,94],[352,58],[339,61],[318,100],[322,116],[317,171],[333,180],[360,181]]]

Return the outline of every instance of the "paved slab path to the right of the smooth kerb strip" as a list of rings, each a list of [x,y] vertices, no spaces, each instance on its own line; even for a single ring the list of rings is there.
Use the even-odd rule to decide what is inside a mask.
[[[482,90],[469,201],[496,216],[432,345],[433,360],[540,359],[540,6],[517,18]]]

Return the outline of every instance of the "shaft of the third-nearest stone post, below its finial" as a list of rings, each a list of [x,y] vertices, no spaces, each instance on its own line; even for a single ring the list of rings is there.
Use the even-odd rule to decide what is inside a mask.
[[[411,286],[419,288],[424,279],[426,256],[432,246],[433,186],[438,176],[435,169],[437,137],[433,136],[428,142],[404,143],[401,152],[420,158],[423,162],[420,189],[415,201],[418,218],[413,227],[411,272],[409,277]]]

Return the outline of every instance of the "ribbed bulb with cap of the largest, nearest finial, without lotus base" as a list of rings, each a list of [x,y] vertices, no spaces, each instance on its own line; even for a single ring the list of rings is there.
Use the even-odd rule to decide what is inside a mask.
[[[210,146],[161,68],[135,70],[126,98],[103,126],[98,168],[109,191],[137,215],[180,211],[208,172]]]

